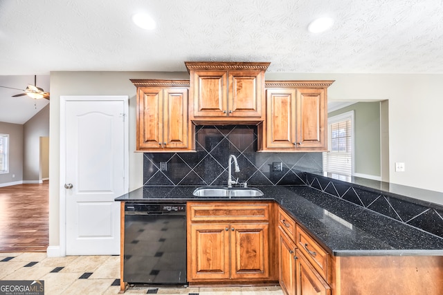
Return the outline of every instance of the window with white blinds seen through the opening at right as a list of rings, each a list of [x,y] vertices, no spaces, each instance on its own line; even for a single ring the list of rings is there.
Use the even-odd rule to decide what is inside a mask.
[[[323,171],[352,175],[354,112],[330,117],[328,129],[328,151],[323,153]]]

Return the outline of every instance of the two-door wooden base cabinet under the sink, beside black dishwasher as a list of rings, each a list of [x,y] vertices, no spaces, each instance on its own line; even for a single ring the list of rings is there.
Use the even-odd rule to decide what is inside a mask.
[[[268,204],[251,204],[251,208],[266,208]],[[246,209],[245,204],[219,203],[188,203],[188,282],[221,282],[226,280],[244,282],[265,282],[271,279],[271,249],[269,240],[269,220],[263,220],[263,215],[230,216],[241,212],[236,209]],[[247,207],[247,206],[246,206]],[[225,211],[224,217],[213,216],[202,221],[199,216],[208,211]],[[247,214],[248,211],[244,211]],[[223,219],[226,222],[221,222]],[[237,218],[237,221],[235,220]]]

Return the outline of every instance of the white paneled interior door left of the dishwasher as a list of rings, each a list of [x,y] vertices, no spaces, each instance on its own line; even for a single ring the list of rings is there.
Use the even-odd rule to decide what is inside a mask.
[[[123,100],[65,101],[66,255],[120,254],[126,109]]]

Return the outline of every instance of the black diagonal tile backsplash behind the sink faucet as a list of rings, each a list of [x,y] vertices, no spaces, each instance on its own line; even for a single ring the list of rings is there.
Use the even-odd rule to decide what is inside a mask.
[[[248,185],[305,185],[302,171],[321,171],[322,153],[257,152],[257,127],[197,126],[195,153],[145,153],[145,186],[226,185],[228,157],[237,157],[240,171],[233,178]],[[160,171],[160,162],[167,170]],[[282,162],[283,171],[272,171]]]

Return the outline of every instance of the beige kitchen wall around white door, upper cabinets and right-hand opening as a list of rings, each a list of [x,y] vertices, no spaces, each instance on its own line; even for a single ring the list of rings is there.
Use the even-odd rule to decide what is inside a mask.
[[[143,154],[134,153],[136,88],[129,79],[188,77],[186,72],[51,72],[50,245],[59,245],[60,95],[129,95],[129,190],[133,190],[143,185]],[[329,99],[388,99],[390,182],[443,192],[443,75],[267,73],[266,79],[333,79]],[[406,171],[395,172],[395,162],[405,162]]]

